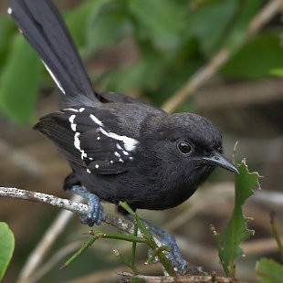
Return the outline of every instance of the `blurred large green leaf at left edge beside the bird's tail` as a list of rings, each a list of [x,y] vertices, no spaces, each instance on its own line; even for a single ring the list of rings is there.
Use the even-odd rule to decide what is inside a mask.
[[[0,110],[21,124],[31,121],[39,88],[41,62],[24,37],[12,42],[0,81]]]

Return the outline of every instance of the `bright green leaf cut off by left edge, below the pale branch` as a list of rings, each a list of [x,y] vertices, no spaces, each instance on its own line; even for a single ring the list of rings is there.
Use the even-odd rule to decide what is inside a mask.
[[[11,260],[15,248],[15,238],[8,225],[0,222],[0,281]]]

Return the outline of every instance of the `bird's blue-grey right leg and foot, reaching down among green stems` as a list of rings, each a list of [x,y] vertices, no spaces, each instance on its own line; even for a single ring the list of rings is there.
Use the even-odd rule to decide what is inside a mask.
[[[133,222],[133,217],[131,215],[126,215],[126,217]],[[179,250],[179,246],[177,246],[176,240],[173,235],[168,232],[162,230],[161,228],[152,225],[150,222],[142,219],[144,225],[146,225],[150,230],[152,230],[153,234],[158,236],[164,246],[169,246],[171,251],[168,253],[168,259],[171,261],[173,267],[176,267],[180,274],[185,274],[187,272],[188,264],[183,259],[181,252]]]

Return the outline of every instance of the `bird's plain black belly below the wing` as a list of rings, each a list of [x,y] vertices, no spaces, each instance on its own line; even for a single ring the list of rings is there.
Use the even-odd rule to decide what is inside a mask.
[[[80,175],[84,173],[81,172]],[[86,178],[88,177],[88,178]],[[82,184],[90,193],[97,194],[101,200],[118,204],[126,202],[134,209],[163,210],[172,208],[186,201],[194,194],[196,187],[188,184],[168,186],[152,180],[136,182],[134,175],[92,175],[89,174]],[[142,180],[142,179],[139,179]]]

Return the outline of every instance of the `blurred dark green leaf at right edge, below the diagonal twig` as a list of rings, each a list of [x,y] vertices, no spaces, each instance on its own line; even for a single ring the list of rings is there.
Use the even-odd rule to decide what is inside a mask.
[[[268,77],[270,69],[283,68],[282,52],[278,34],[262,33],[241,48],[222,68],[221,73],[234,79]]]

